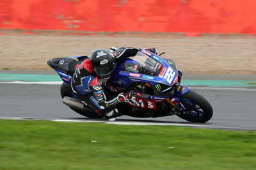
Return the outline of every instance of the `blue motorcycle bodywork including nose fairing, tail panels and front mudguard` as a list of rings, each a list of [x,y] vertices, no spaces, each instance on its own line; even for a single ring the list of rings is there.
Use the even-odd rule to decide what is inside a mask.
[[[84,56],[70,56],[67,58],[84,58]],[[64,82],[70,84],[70,76],[67,73],[54,69]],[[170,96],[179,96],[188,92],[186,86],[180,86],[180,91],[166,93],[172,89],[178,81],[178,71],[174,61],[164,59],[147,50],[140,50],[136,56],[124,59],[118,63],[108,80],[108,84],[122,91],[129,88],[134,82],[147,82],[154,87],[154,94],[145,95],[148,100],[161,101]],[[164,86],[164,88],[163,88]],[[178,88],[179,89],[179,88]]]

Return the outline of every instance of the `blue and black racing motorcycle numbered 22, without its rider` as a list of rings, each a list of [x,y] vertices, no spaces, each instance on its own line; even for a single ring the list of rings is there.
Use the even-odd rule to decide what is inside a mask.
[[[177,115],[191,122],[209,121],[212,118],[211,104],[195,91],[180,84],[182,72],[172,59],[161,58],[162,54],[164,52],[158,56],[141,49],[135,56],[116,64],[104,88],[116,95],[128,91],[140,94],[130,99],[124,98],[122,103],[116,105],[120,116],[157,118]],[[54,58],[47,61],[47,64],[63,80],[60,93],[64,104],[88,118],[102,118],[89,104],[77,99],[70,86],[72,75],[86,58],[88,57]],[[92,93],[88,93],[86,97],[93,100]]]

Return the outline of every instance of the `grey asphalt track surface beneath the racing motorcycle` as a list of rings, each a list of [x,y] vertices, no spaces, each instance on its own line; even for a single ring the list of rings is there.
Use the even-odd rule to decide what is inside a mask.
[[[256,130],[256,89],[191,88],[205,97],[214,114],[207,123],[190,123],[177,116],[162,118],[132,118],[121,116],[125,122],[171,123],[230,130]],[[80,116],[62,104],[60,85],[0,84],[0,117],[92,120]]]

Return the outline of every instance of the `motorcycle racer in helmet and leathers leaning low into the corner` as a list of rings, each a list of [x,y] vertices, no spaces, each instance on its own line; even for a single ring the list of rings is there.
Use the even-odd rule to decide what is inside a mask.
[[[83,104],[93,107],[100,116],[113,120],[119,115],[115,107],[121,102],[118,97],[130,99],[135,94],[129,92],[111,95],[105,89],[106,83],[111,77],[116,63],[127,57],[135,56],[139,50],[132,47],[93,50],[91,58],[84,59],[72,76],[71,87],[77,98]],[[154,47],[147,50],[157,54],[157,49]],[[88,97],[88,95],[91,96]]]

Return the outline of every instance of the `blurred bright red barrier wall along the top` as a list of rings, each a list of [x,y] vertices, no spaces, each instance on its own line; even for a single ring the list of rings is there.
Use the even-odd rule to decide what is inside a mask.
[[[0,28],[256,33],[255,0],[1,0]]]

